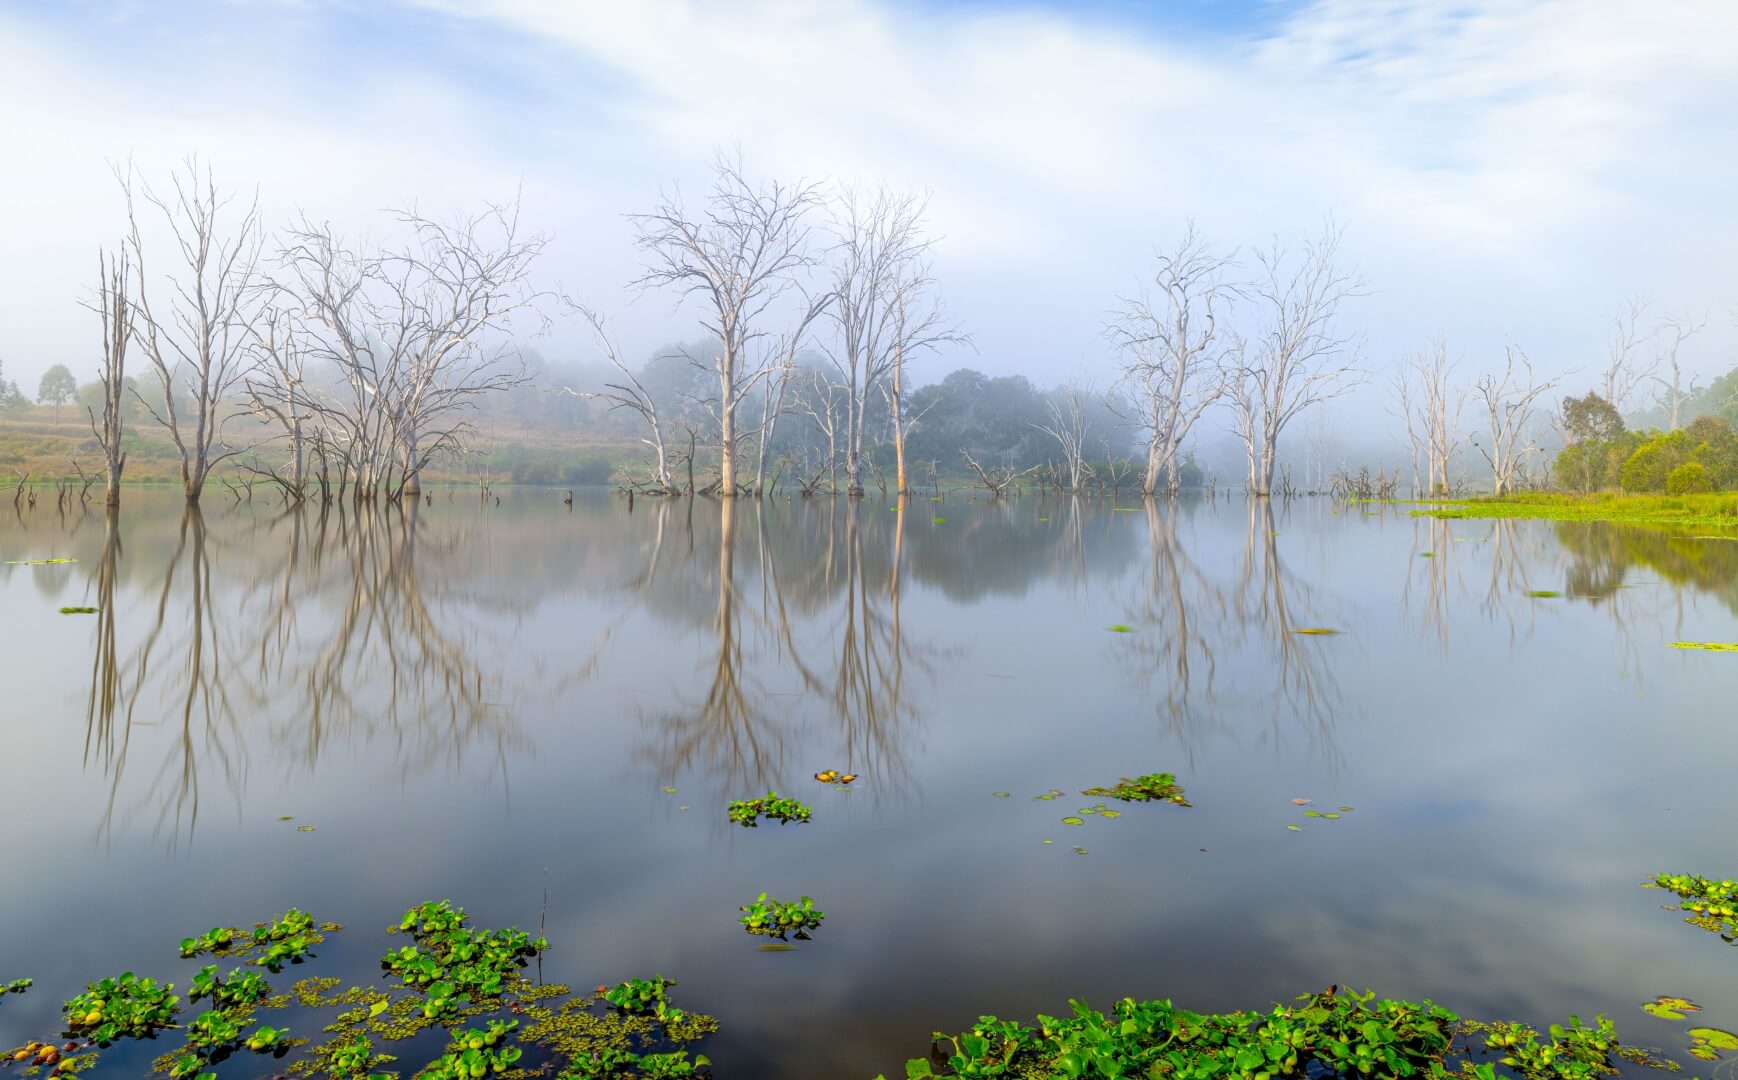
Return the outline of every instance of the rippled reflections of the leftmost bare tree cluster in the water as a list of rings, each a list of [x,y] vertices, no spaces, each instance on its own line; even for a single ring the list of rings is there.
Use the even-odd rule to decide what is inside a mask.
[[[480,659],[488,650],[468,630],[474,619],[452,610],[478,607],[454,574],[466,536],[428,541],[414,504],[304,508],[264,523],[242,513],[226,522],[240,543],[214,558],[205,517],[188,506],[155,607],[123,657],[120,517],[108,515],[85,710],[85,762],[109,776],[101,835],[116,812],[155,814],[156,835],[191,840],[205,784],[221,783],[240,809],[250,753],[266,750],[275,767],[313,770],[337,748],[386,739],[412,772],[487,746],[506,776],[523,737],[488,699],[499,675]],[[436,570],[424,576],[429,558]],[[271,574],[259,569],[271,563]],[[137,805],[125,805],[141,743],[162,743],[163,760]]]

